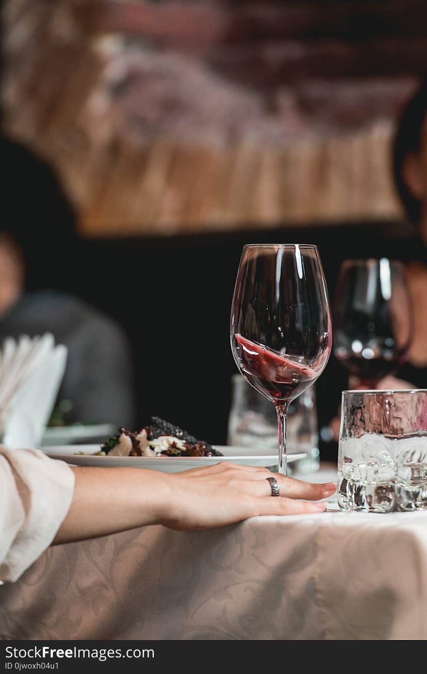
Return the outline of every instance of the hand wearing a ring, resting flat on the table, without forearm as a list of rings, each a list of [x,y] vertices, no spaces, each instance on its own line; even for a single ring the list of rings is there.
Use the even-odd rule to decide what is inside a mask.
[[[268,477],[275,477],[280,497],[271,497]],[[233,524],[255,515],[319,513],[335,483],[310,484],[272,473],[267,468],[221,462],[168,475],[169,497],[162,524],[172,529],[201,530]],[[296,499],[308,499],[301,501]]]

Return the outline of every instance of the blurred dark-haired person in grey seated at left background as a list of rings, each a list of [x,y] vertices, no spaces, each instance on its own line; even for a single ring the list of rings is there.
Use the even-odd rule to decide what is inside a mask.
[[[7,170],[0,225],[0,341],[51,332],[68,348],[58,400],[69,400],[72,407],[63,421],[131,426],[135,400],[125,334],[112,319],[64,292],[83,273],[73,210],[48,164],[5,137],[1,150]]]

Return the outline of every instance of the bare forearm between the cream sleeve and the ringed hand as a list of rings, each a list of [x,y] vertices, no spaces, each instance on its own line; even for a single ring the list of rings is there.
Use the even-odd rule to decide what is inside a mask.
[[[73,471],[73,501],[54,543],[90,539],[162,520],[169,492],[162,472],[79,467]]]

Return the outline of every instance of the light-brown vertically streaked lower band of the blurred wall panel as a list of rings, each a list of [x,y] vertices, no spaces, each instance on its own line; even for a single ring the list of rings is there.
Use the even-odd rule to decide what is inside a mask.
[[[88,235],[170,234],[394,218],[390,131],[379,125],[286,150],[159,141],[117,160],[82,226]]]

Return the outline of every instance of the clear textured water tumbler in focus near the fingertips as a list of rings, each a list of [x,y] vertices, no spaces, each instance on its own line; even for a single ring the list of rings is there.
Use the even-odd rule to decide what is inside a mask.
[[[343,391],[342,510],[427,509],[427,389]]]

